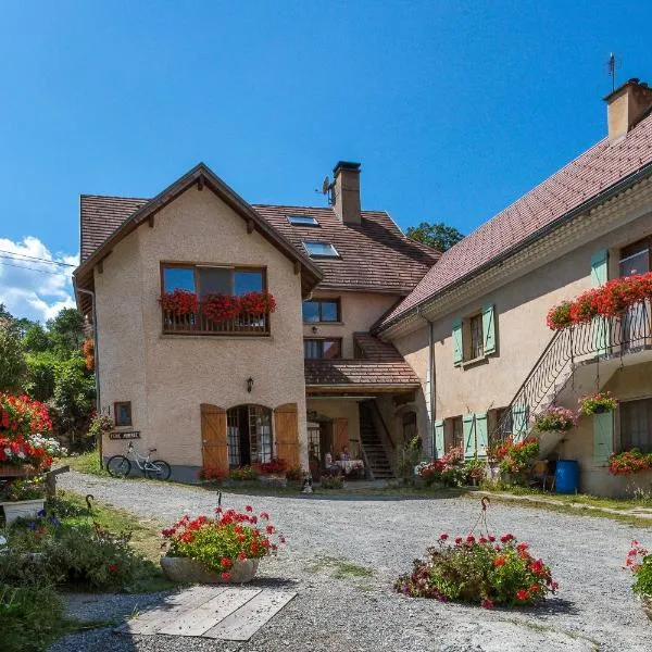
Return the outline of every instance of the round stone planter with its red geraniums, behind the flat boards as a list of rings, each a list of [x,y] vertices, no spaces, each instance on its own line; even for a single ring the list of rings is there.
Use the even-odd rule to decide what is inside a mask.
[[[215,510],[215,518],[183,516],[162,531],[167,552],[161,566],[174,581],[244,584],[251,581],[262,557],[276,553],[285,537],[269,523],[269,515]],[[276,542],[277,541],[277,542]]]

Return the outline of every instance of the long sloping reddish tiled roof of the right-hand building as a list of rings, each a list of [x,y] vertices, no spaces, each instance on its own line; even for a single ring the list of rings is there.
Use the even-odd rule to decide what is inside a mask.
[[[623,139],[601,140],[444,252],[416,288],[380,324],[387,328],[418,305],[460,286],[585,205],[634,183],[652,164],[652,116]],[[643,171],[645,168],[645,171]]]

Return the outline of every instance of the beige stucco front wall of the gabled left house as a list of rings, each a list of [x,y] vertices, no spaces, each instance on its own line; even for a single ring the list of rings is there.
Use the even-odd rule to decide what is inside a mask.
[[[261,265],[277,309],[271,337],[162,335],[160,263]],[[96,272],[102,405],[130,400],[141,448],[201,465],[200,403],[297,403],[306,462],[300,276],[213,192],[191,188],[127,236]],[[105,362],[104,362],[105,361]],[[254,379],[247,392],[247,378]],[[110,454],[124,443],[108,443]]]

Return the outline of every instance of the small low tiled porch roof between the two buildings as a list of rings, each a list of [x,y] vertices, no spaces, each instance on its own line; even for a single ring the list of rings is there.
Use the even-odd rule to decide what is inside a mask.
[[[309,392],[411,391],[419,386],[414,369],[392,344],[366,333],[354,333],[353,340],[364,358],[304,361]]]

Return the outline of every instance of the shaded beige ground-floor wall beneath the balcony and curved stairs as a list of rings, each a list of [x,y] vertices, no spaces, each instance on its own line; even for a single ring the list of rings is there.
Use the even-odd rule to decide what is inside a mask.
[[[636,355],[636,353],[634,354]],[[652,362],[624,366],[604,384],[619,401],[634,401],[652,397]],[[614,414],[615,450],[619,450],[619,411]],[[593,461],[593,417],[582,416],[577,427],[569,431],[557,447],[561,457],[578,460],[580,464],[580,488],[586,493],[598,496],[627,496],[636,488],[652,490],[652,471],[629,476],[612,476],[606,466]]]

